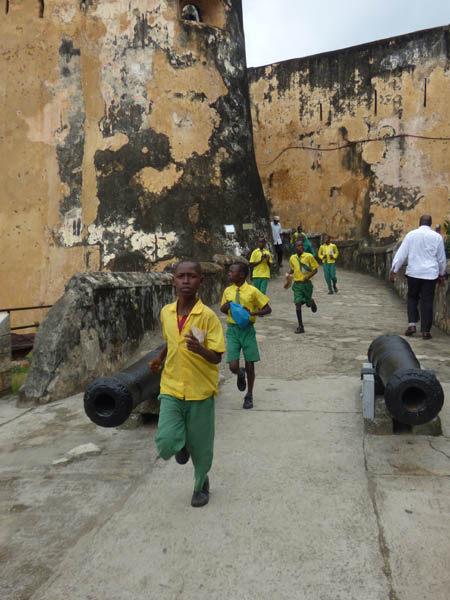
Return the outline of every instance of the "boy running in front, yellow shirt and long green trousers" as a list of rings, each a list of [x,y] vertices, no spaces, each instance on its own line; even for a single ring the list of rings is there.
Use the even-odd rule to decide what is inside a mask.
[[[161,374],[156,447],[164,460],[175,455],[177,463],[185,464],[192,458],[195,484],[191,505],[195,507],[209,500],[217,364],[225,352],[219,319],[197,297],[202,280],[197,262],[184,261],[175,268],[178,300],[164,306],[160,317],[166,345],[149,363],[152,373],[158,373],[166,359]]]

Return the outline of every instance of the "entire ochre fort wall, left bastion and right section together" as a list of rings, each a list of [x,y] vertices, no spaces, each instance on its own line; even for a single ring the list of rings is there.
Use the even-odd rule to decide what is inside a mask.
[[[246,254],[268,208],[375,244],[450,218],[448,27],[247,71],[240,0],[2,7],[3,308]]]

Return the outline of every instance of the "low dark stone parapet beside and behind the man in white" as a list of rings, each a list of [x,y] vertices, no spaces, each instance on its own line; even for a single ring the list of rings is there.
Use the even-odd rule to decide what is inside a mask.
[[[398,244],[386,246],[368,246],[364,240],[336,242],[339,248],[339,266],[361,273],[370,273],[379,279],[389,280],[392,260]],[[447,261],[447,278],[444,284],[436,288],[433,317],[434,324],[450,334],[450,260]],[[395,280],[395,291],[406,299],[408,283],[403,267]],[[406,307],[405,307],[406,323]]]

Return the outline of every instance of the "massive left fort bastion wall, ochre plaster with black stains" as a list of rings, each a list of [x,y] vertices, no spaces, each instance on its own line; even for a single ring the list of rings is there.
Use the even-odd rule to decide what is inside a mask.
[[[245,252],[267,227],[241,0],[197,2],[202,23],[181,20],[185,3],[4,7],[3,306],[53,304],[80,271]]]

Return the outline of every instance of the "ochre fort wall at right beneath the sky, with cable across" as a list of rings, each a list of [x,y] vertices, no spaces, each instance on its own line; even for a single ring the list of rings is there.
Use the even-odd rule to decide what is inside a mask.
[[[258,169],[284,227],[387,244],[420,214],[449,220],[449,32],[249,69]]]

